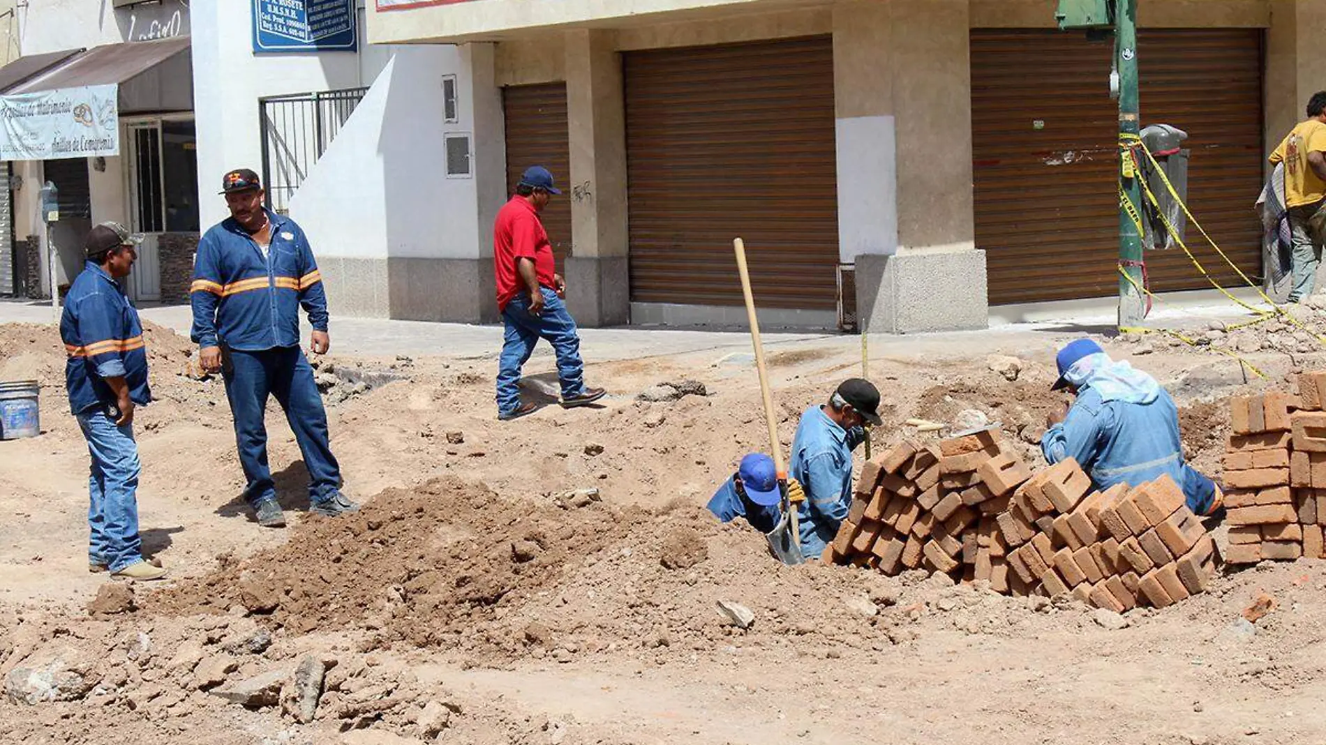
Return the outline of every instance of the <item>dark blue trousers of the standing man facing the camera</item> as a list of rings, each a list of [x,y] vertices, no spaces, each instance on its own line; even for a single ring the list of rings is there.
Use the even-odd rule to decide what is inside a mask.
[[[276,500],[276,484],[267,465],[264,415],[268,396],[276,396],[281,404],[304,453],[304,465],[309,471],[309,501],[318,504],[335,498],[341,489],[341,467],[332,455],[326,410],[304,351],[297,346],[224,351],[225,398],[231,402],[240,464],[248,479],[244,498],[253,506]]]

